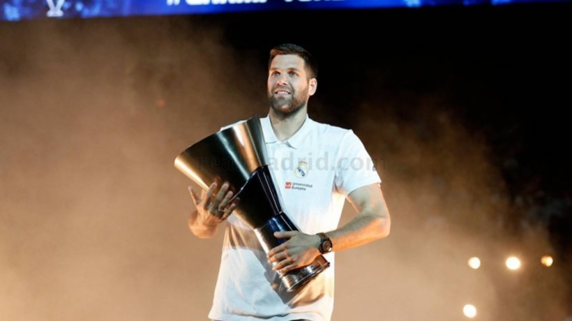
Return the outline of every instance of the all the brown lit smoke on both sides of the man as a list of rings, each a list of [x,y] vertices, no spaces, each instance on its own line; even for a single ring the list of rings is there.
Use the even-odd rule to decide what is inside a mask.
[[[172,163],[266,113],[264,61],[181,17],[1,24],[0,37],[0,319],[206,319],[222,233],[190,234],[190,181]],[[483,137],[435,96],[376,94],[351,112],[393,230],[338,253],[333,320],[460,320],[469,303],[479,320],[563,320],[557,264],[534,267],[545,231],[511,223]],[[331,119],[319,97],[310,115]],[[522,271],[502,267],[508,254]]]

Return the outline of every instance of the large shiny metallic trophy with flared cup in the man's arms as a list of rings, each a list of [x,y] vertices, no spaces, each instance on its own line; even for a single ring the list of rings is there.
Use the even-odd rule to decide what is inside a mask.
[[[282,244],[274,232],[298,231],[280,204],[268,168],[262,126],[258,117],[232,126],[191,145],[175,159],[175,167],[205,190],[216,182],[229,183],[229,191],[240,198],[232,212],[252,228],[264,252]],[[231,202],[232,202],[231,200]],[[276,264],[276,263],[273,263]],[[279,274],[292,292],[311,281],[330,263],[319,255],[306,267]]]

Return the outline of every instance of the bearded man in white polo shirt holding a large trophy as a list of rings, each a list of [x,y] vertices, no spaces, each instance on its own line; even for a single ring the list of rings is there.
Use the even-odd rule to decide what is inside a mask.
[[[228,218],[213,320],[330,320],[333,311],[334,257],[342,251],[389,234],[389,211],[381,180],[366,149],[352,130],[319,124],[308,117],[308,99],[317,89],[311,54],[292,44],[273,48],[269,59],[268,117],[262,130],[269,167],[285,213],[302,232],[276,232],[287,239],[264,253],[252,230],[230,216],[232,192],[212,184],[190,194],[197,211],[189,227],[201,238],[213,237]],[[337,228],[345,199],[357,215]],[[289,293],[278,270],[306,266],[324,254],[331,267],[308,285]],[[276,263],[272,267],[273,263]]]

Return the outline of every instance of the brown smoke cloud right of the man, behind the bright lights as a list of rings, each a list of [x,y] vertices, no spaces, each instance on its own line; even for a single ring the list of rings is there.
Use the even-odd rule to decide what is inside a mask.
[[[359,106],[356,133],[377,159],[392,232],[338,254],[336,300],[347,305],[336,320],[460,320],[465,304],[479,320],[564,320],[567,267],[541,265],[555,253],[547,232],[514,220],[524,215],[484,137],[444,99],[376,94],[386,100]],[[504,267],[510,255],[519,271]]]

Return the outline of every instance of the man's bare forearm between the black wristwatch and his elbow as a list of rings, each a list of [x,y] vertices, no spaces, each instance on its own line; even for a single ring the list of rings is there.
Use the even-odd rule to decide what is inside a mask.
[[[389,216],[366,210],[343,227],[326,234],[332,241],[333,251],[342,251],[386,237],[390,225]]]

